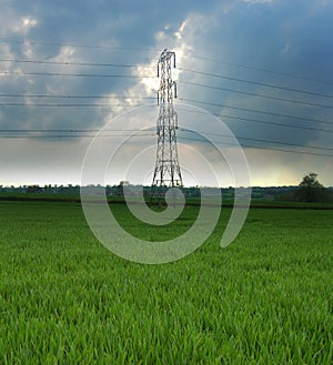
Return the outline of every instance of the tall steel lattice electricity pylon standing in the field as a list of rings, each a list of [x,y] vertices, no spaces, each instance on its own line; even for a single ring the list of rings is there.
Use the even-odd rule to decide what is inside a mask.
[[[158,91],[160,112],[157,122],[157,162],[151,189],[151,195],[159,197],[164,196],[169,187],[183,186],[175,136],[178,114],[173,109],[173,99],[176,98],[176,84],[172,81],[172,68],[175,68],[175,53],[165,49],[158,62],[158,77],[161,78]]]

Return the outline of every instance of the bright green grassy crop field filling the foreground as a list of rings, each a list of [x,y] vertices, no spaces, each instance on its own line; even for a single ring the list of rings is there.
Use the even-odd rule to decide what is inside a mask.
[[[170,239],[198,207],[132,234]],[[333,211],[252,209],[220,249],[230,209],[183,260],[109,252],[81,205],[0,202],[0,364],[332,364]]]

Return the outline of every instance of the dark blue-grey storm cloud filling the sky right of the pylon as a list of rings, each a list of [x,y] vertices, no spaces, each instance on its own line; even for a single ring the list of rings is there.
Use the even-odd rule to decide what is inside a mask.
[[[225,8],[224,8],[225,9]],[[222,9],[223,10],[223,9]],[[269,83],[282,88],[300,89],[312,93],[333,95],[333,44],[331,20],[333,6],[311,1],[272,1],[268,3],[235,2],[228,11],[216,12],[218,24],[211,27],[205,34],[206,42],[199,39],[196,53],[226,61],[205,62],[206,72],[226,77]],[[228,62],[243,64],[245,68],[228,64]],[[246,68],[275,72],[261,72]],[[295,75],[295,78],[286,77]],[[185,79],[188,75],[183,75]],[[322,80],[315,82],[307,79]],[[204,99],[213,103],[254,109],[269,113],[294,115],[292,118],[276,118],[274,115],[244,113],[222,109],[223,114],[260,119],[266,122],[281,122],[307,128],[323,128],[321,123],[300,121],[299,118],[332,120],[332,108],[312,107],[309,104],[324,104],[332,107],[332,98],[314,94],[291,92],[278,88],[266,88],[258,84],[242,83],[226,79],[196,75],[198,83],[205,83],[215,88],[262,94],[294,102],[283,102],[269,98],[244,95],[232,91],[201,89]],[[186,87],[186,92],[190,92]],[[199,98],[200,92],[198,92]],[[297,102],[299,101],[299,102]],[[309,103],[309,104],[306,104]],[[210,108],[218,112],[219,108]],[[263,138],[287,143],[306,144],[317,138],[320,132],[313,130],[295,130],[264,125],[263,123],[230,122],[229,125],[238,135]],[[273,134],[274,138],[271,138]],[[330,145],[327,140],[324,145]]]

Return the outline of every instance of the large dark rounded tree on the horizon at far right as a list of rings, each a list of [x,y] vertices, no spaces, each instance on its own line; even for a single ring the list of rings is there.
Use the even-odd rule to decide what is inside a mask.
[[[317,174],[309,173],[302,180],[295,193],[295,200],[304,203],[327,203],[332,201],[332,194],[317,180]]]

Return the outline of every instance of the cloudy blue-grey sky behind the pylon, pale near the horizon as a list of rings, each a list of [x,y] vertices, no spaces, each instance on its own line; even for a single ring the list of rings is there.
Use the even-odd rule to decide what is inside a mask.
[[[234,181],[244,166],[228,161],[230,131],[253,186],[296,185],[309,172],[333,186],[333,1],[0,6],[0,185],[80,184],[91,142],[95,166],[108,154],[104,182],[149,184],[167,48],[185,185],[214,184],[203,164],[221,186],[244,183]]]

